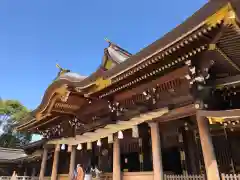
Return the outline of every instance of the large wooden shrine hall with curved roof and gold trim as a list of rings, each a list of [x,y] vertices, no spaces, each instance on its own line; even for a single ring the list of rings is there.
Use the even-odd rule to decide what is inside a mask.
[[[88,77],[58,66],[17,127],[45,139],[40,180],[77,164],[113,180],[240,178],[239,13],[211,0],[137,54],[107,40]]]

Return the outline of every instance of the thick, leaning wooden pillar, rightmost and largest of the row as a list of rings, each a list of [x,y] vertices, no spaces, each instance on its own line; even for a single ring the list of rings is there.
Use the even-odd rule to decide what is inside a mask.
[[[209,122],[207,118],[197,116],[200,141],[202,145],[203,158],[208,180],[220,180],[212,137],[209,131]]]

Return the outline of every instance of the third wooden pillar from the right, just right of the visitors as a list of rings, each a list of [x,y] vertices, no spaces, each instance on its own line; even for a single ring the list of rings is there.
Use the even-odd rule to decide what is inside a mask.
[[[121,180],[120,140],[117,136],[113,141],[113,180]]]

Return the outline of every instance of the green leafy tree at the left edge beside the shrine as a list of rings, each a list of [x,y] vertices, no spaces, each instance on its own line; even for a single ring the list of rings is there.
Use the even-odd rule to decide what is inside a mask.
[[[29,115],[29,110],[16,100],[0,99],[0,146],[17,148],[31,141],[30,133],[14,131]]]

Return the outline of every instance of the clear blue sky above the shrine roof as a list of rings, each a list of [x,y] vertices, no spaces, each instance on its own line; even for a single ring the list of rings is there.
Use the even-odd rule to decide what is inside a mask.
[[[89,75],[104,38],[131,53],[160,38],[207,0],[1,0],[0,96],[30,109],[62,67]]]

